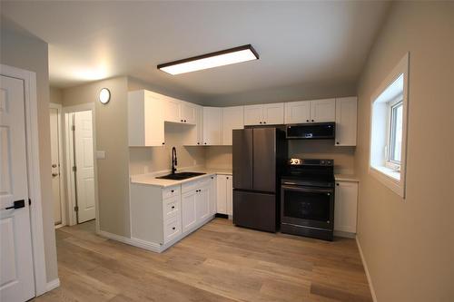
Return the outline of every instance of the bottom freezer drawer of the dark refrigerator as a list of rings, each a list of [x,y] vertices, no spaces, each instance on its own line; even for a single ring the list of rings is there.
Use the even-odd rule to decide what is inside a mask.
[[[275,232],[276,195],[233,190],[233,223],[239,227]]]

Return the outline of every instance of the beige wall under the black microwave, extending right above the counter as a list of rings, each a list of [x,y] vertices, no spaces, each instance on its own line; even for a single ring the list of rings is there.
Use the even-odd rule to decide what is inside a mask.
[[[355,173],[355,147],[336,147],[332,140],[289,141],[289,157],[334,160],[334,172]]]

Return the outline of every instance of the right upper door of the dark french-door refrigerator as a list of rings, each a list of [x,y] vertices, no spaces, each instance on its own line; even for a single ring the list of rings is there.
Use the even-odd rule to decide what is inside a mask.
[[[233,175],[236,181],[237,176]],[[276,190],[276,129],[253,130],[253,190]],[[236,187],[235,187],[236,189]]]

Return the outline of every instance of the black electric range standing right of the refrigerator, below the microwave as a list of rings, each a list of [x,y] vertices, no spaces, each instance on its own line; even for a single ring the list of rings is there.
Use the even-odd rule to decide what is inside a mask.
[[[281,232],[332,240],[334,161],[291,159],[281,176]]]

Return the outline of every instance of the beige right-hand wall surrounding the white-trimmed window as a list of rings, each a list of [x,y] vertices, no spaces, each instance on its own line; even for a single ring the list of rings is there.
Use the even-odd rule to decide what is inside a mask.
[[[370,97],[410,52],[407,198],[368,174]],[[398,2],[359,86],[358,238],[379,301],[454,301],[454,3]]]

